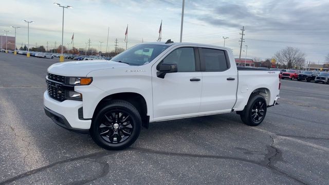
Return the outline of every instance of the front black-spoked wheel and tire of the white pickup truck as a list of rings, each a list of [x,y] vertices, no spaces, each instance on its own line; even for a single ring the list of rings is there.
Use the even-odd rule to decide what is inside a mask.
[[[123,100],[112,100],[94,117],[90,135],[106,150],[121,150],[136,141],[141,123],[140,114],[134,105]]]

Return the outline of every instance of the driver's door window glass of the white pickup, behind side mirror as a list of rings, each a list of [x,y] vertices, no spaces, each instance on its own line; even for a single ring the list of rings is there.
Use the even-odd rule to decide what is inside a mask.
[[[163,59],[163,63],[177,64],[177,72],[194,72],[195,58],[192,47],[178,48]]]

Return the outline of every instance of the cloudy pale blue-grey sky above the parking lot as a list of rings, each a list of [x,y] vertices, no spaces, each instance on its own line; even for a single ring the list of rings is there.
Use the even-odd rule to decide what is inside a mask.
[[[114,49],[117,38],[124,47],[124,32],[129,24],[129,44],[154,42],[162,23],[162,41],[179,42],[181,1],[174,0],[79,0],[79,1],[2,1],[0,29],[17,29],[17,46],[27,42],[27,24],[22,19],[35,21],[30,25],[30,45],[49,47],[61,43],[62,9],[57,2],[73,6],[65,9],[64,44],[71,42],[75,32],[75,46],[84,48],[88,39],[92,47],[106,49],[109,26],[108,50]],[[206,43],[223,46],[222,36],[227,36],[226,46],[239,55],[240,29],[245,26],[247,58],[271,58],[275,52],[293,46],[307,54],[306,60],[324,61],[329,53],[329,1],[222,1],[186,0],[183,42]],[[1,33],[4,33],[1,31]],[[70,45],[71,47],[71,45]],[[244,47],[245,48],[245,47]],[[243,58],[245,52],[242,52]]]

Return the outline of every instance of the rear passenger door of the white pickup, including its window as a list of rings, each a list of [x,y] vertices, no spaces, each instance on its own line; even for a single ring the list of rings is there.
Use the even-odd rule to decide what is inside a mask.
[[[237,69],[226,50],[199,48],[202,95],[199,112],[230,112],[236,99]]]

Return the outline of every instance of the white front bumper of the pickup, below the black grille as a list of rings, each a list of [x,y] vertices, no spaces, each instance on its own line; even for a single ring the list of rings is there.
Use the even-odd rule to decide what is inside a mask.
[[[91,119],[83,119],[80,116],[78,109],[82,107],[82,101],[65,100],[63,102],[54,100],[45,91],[43,95],[44,109],[48,117],[50,117],[56,124],[70,130],[80,133],[88,132]]]

